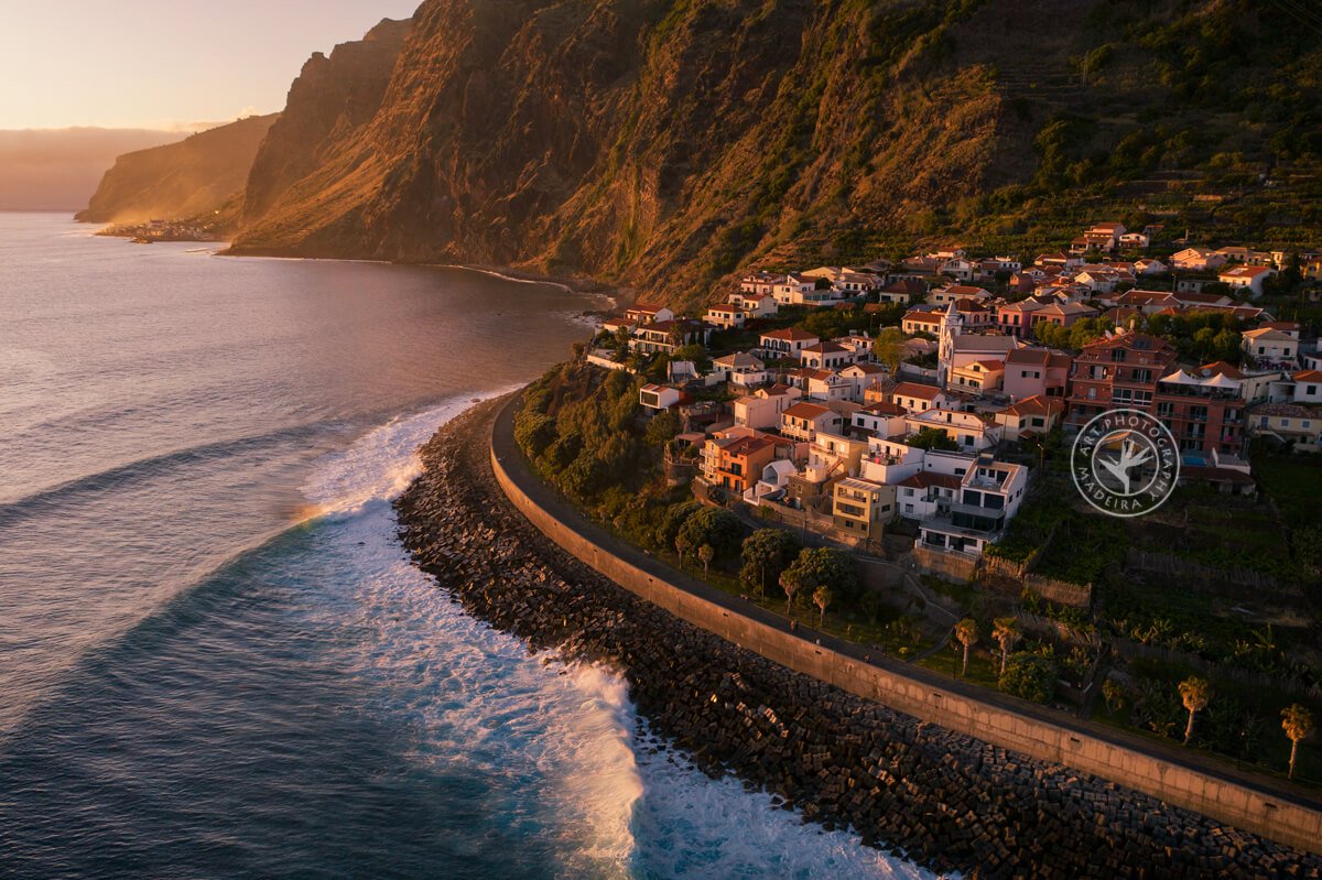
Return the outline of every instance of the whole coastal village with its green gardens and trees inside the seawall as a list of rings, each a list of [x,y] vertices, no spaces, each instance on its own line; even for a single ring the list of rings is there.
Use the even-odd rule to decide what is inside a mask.
[[[1322,254],[1186,240],[1108,222],[1025,258],[748,271],[701,314],[644,297],[530,386],[514,439],[623,544],[791,626],[1293,774],[1322,706],[1322,354],[1277,312],[1311,313]],[[1117,408],[1178,447],[1133,521],[1068,464]]]

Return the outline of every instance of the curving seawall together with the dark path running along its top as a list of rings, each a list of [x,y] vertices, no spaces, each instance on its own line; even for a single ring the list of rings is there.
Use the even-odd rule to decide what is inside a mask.
[[[492,429],[492,468],[501,489],[547,538],[636,596],[787,669],[920,720],[1096,774],[1300,850],[1322,852],[1322,807],[1317,803],[1272,791],[1248,778],[1233,778],[1228,769],[1192,766],[1159,754],[1155,747],[1140,748],[1083,725],[1052,721],[1002,695],[980,699],[960,692],[927,670],[865,659],[857,646],[829,637],[818,645],[802,633],[789,632],[776,616],[727,593],[672,583],[656,560],[604,540],[600,529],[576,514],[567,515],[554,493],[527,470],[513,440],[517,402],[518,395],[502,407]]]

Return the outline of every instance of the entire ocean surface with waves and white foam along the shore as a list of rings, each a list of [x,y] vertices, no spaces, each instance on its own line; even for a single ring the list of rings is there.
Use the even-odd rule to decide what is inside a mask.
[[[418,445],[600,299],[212,251],[0,214],[0,876],[927,876],[395,542]]]

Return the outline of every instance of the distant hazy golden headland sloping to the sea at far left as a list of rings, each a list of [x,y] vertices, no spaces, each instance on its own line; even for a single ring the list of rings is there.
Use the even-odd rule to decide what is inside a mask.
[[[243,189],[275,119],[275,114],[249,116],[175,144],[124,153],[77,219],[126,223],[210,214]]]

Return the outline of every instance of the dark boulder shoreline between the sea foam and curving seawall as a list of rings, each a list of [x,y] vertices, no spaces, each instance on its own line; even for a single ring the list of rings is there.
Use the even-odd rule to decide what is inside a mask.
[[[652,606],[508,502],[488,436],[504,400],[423,447],[397,501],[414,560],[530,650],[623,674],[650,729],[824,827],[980,877],[1322,877],[1322,858],[1032,761],[792,673]]]

